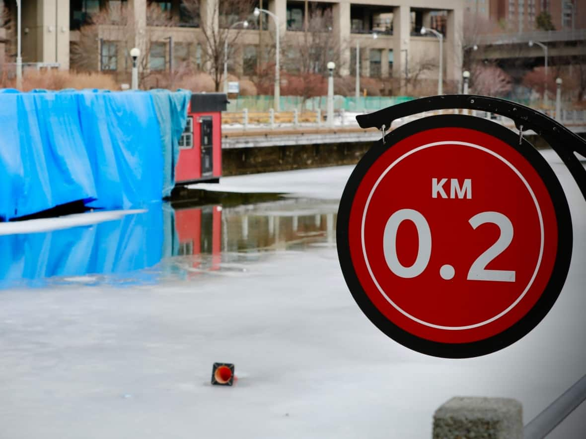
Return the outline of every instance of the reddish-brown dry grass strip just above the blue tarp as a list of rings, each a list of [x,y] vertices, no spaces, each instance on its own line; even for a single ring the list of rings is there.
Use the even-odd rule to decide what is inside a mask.
[[[4,75],[0,77],[0,88],[15,88],[15,78]],[[64,88],[98,88],[101,90],[120,90],[114,78],[104,73],[76,73],[74,71],[25,71],[22,78],[22,91],[35,90],[63,90]]]

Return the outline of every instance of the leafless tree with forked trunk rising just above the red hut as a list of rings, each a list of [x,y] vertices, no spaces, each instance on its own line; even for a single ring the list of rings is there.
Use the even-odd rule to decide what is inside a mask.
[[[208,0],[205,6],[200,0],[183,0],[183,5],[192,18],[201,23],[197,39],[206,60],[206,70],[219,91],[224,72],[224,47],[227,47],[228,59],[233,58],[241,31],[241,26],[231,26],[250,18],[254,0]]]

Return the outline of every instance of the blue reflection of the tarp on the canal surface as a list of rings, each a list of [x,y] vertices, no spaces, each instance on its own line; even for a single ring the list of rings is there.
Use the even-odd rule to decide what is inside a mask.
[[[161,204],[115,221],[0,236],[0,284],[52,276],[130,273],[162,258]],[[145,273],[148,275],[148,273]]]

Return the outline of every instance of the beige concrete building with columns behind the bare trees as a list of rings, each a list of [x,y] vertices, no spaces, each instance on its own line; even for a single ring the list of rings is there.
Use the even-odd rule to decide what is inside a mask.
[[[25,63],[57,63],[60,68],[70,68],[71,47],[80,39],[80,29],[88,18],[104,11],[127,5],[132,11],[136,24],[134,43],[137,47],[148,47],[147,63],[144,68],[169,70],[180,61],[190,60],[197,67],[205,67],[202,56],[202,26],[229,27],[237,19],[231,11],[213,8],[216,0],[200,0],[200,18],[194,19],[186,13],[181,0],[155,0],[157,5],[175,20],[172,26],[155,29],[147,20],[147,0],[32,0],[25,2],[22,9],[22,57]],[[264,15],[264,31],[261,32],[258,18],[252,12],[254,5],[261,6],[278,18],[282,47],[304,35],[304,21],[308,11],[329,12],[331,23],[325,26],[327,38],[338,44],[338,73],[354,74],[356,53],[360,54],[360,70],[363,76],[390,77],[407,74],[417,63],[427,62],[438,66],[440,38],[433,32],[421,35],[421,28],[441,33],[444,57],[444,78],[458,81],[461,76],[461,28],[465,4],[470,0],[323,0],[304,2],[298,0],[264,0],[264,4],[251,4],[250,16],[253,23],[239,32],[236,44],[238,50],[230,59],[230,70],[236,74],[254,73],[257,59],[271,43],[275,22]],[[489,0],[486,0],[488,2]],[[535,1],[535,0],[529,0]],[[537,0],[539,1],[539,0]],[[483,0],[478,0],[479,3]],[[268,3],[268,4],[267,4]],[[486,4],[488,6],[488,4]],[[13,0],[5,3],[9,14],[15,18],[16,6]],[[212,10],[219,10],[214,18]],[[111,72],[130,70],[127,43],[113,37],[116,24],[100,26],[97,36],[95,68]],[[151,30],[156,32],[150,32]],[[268,32],[267,32],[268,31]],[[14,33],[12,33],[14,35]],[[376,37],[375,37],[376,35]],[[153,40],[148,45],[145,39]],[[14,45],[12,45],[14,46]],[[11,46],[11,47],[12,47]],[[359,46],[359,50],[356,50]],[[12,49],[13,50],[13,49]],[[319,47],[316,47],[319,50]],[[286,52],[286,50],[285,50]],[[274,52],[273,52],[274,53]],[[271,55],[266,55],[271,56]],[[274,56],[274,54],[272,54]],[[287,53],[283,53],[285,61]],[[407,64],[407,65],[406,65]],[[282,61],[287,68],[287,63]],[[73,66],[74,67],[74,66]],[[425,73],[437,78],[437,67]]]

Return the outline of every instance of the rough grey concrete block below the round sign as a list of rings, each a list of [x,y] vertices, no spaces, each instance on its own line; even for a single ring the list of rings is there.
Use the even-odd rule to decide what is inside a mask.
[[[523,439],[523,407],[515,399],[454,397],[434,414],[433,439]]]

